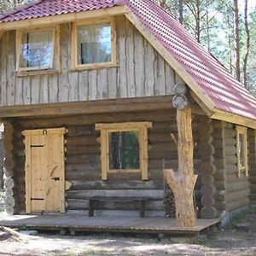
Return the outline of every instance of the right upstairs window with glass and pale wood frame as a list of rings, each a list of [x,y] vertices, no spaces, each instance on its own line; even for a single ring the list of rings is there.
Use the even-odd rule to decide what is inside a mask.
[[[115,26],[113,18],[98,23],[73,25],[73,68],[115,65]]]

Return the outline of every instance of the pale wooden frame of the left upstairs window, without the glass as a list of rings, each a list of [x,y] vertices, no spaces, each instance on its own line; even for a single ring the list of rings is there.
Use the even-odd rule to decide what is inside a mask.
[[[20,46],[22,35],[24,32],[44,32],[52,31],[52,43],[53,48],[51,51],[51,62],[49,67],[40,68],[40,67],[20,67]],[[56,60],[56,65],[55,65]],[[31,74],[31,73],[49,73],[53,71],[58,71],[60,68],[60,26],[44,26],[44,27],[32,27],[26,29],[19,29],[16,31],[16,73],[19,75],[22,74]],[[55,66],[55,67],[54,67]]]

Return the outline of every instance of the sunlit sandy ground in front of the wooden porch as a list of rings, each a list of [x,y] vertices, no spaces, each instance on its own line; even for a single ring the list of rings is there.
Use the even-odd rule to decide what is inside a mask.
[[[0,201],[0,209],[1,206]],[[193,238],[56,233],[27,236],[12,230],[7,232],[9,236],[1,236],[0,229],[0,255],[256,255],[256,210],[253,209],[235,218],[229,226]]]

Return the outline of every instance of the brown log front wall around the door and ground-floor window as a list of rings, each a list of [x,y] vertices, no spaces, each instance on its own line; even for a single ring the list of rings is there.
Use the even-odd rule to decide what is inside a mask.
[[[100,136],[95,130],[97,122],[152,121],[153,128],[148,130],[148,171],[149,180],[142,181],[140,173],[109,173],[108,181],[101,180],[100,144],[96,139]],[[15,184],[19,190],[20,211],[25,207],[24,194],[24,145],[21,130],[45,129],[65,126],[66,136],[66,179],[73,183],[67,190],[67,209],[83,211],[88,207],[88,197],[93,195],[151,195],[163,196],[162,160],[177,169],[177,145],[172,141],[170,133],[177,137],[176,112],[171,109],[144,111],[141,113],[109,113],[78,115],[55,118],[16,119],[15,121]],[[195,145],[198,142],[197,122],[193,123]],[[199,166],[198,148],[195,146],[195,170]],[[104,202],[98,210],[103,211],[136,211],[136,203]],[[163,201],[151,201],[146,204],[147,214],[164,215]]]

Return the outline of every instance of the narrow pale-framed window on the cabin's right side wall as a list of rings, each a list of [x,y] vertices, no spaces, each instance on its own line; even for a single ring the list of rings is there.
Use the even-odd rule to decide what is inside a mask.
[[[241,177],[241,173],[248,176],[247,165],[247,128],[236,125],[236,156],[238,177]]]

